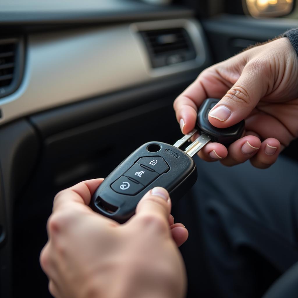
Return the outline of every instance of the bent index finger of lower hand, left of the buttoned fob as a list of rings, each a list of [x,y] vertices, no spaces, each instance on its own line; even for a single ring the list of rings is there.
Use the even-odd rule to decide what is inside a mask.
[[[103,179],[86,180],[60,191],[54,198],[53,211],[69,202],[89,205],[91,196],[102,182]]]

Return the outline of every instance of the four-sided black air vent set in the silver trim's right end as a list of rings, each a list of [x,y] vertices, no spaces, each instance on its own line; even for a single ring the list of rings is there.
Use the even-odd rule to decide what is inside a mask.
[[[193,43],[184,28],[140,31],[148,48],[152,67],[195,59]]]

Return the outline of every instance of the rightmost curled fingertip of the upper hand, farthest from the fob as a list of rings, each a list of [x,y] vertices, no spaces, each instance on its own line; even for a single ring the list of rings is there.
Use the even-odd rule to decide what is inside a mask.
[[[260,149],[250,162],[253,166],[266,169],[276,162],[280,153],[280,142],[274,138],[268,138],[262,142]]]

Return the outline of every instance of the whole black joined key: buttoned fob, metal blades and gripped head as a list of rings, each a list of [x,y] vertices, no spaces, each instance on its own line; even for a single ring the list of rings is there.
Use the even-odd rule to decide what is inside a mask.
[[[136,149],[108,175],[91,198],[90,207],[106,217],[124,223],[135,213],[136,205],[150,189],[164,187],[175,204],[197,180],[192,159],[210,140],[225,146],[239,139],[244,120],[229,128],[210,124],[208,113],[218,99],[208,98],[201,105],[194,129],[174,145],[148,142]],[[201,134],[185,151],[179,149],[191,136]]]

